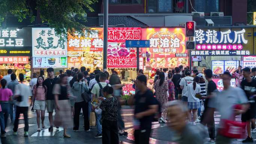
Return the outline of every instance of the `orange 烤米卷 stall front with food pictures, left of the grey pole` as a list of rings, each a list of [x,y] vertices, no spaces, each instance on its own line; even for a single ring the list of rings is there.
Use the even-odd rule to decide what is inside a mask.
[[[85,37],[68,34],[68,68],[103,68],[103,28],[85,30]]]

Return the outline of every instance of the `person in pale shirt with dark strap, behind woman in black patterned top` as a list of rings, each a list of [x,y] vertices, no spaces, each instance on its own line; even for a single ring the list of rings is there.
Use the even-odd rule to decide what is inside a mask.
[[[92,99],[97,99],[99,97],[103,97],[102,89],[105,86],[111,86],[106,83],[106,80],[107,80],[107,74],[101,73],[100,74],[100,82],[96,83],[91,90]],[[102,138],[102,128],[101,128],[101,124],[100,124],[101,114],[95,114],[95,115],[96,115],[96,126],[97,126],[97,131],[98,131],[98,134],[95,135],[95,138]]]

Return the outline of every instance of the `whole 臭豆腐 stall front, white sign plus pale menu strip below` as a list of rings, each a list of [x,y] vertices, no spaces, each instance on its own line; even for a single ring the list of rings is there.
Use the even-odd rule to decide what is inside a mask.
[[[32,62],[33,71],[39,75],[40,70],[54,68],[54,75],[67,68],[67,43],[55,36],[54,29],[32,28]]]

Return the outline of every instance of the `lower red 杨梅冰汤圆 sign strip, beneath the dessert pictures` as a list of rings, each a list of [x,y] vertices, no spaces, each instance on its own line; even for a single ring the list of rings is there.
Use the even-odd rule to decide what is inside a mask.
[[[137,67],[137,58],[132,57],[107,57],[107,67],[109,68],[136,68]]]

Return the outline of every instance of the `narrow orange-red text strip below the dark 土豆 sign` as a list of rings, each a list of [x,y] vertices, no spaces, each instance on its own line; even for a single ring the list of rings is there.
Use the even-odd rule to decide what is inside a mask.
[[[0,64],[28,64],[28,56],[0,56]]]

